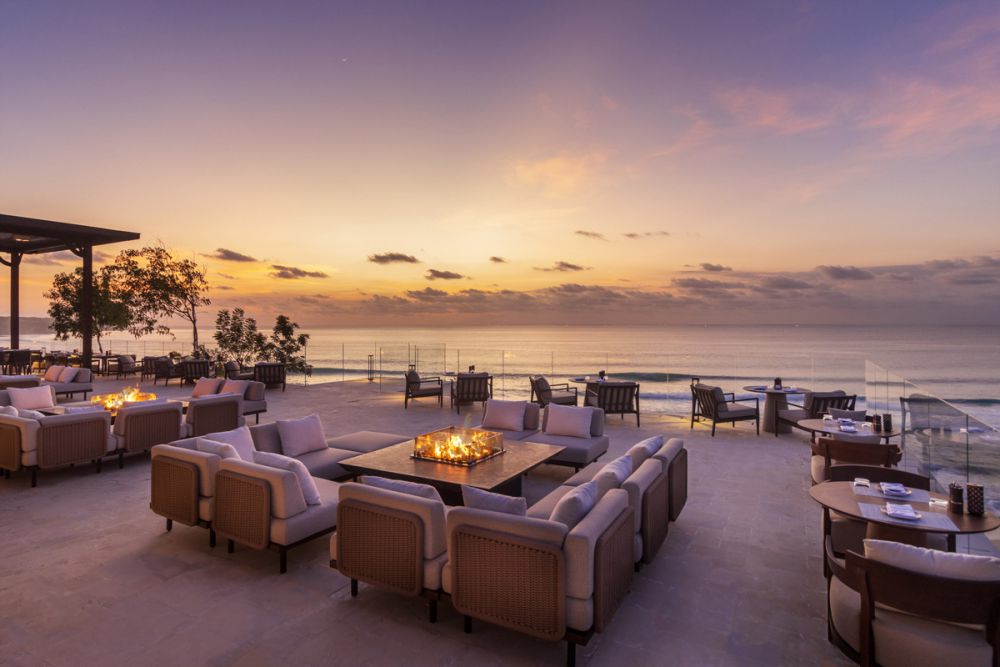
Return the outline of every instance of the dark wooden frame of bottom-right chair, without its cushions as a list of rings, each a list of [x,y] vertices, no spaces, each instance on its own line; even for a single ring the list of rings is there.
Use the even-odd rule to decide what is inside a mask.
[[[829,538],[824,543],[827,578],[827,636],[844,655],[865,667],[875,665],[876,605],[942,623],[981,625],[993,648],[993,665],[1000,665],[1000,580],[969,580],[915,572],[848,551],[841,561]],[[830,581],[836,577],[861,596],[859,649],[854,650],[833,623]]]

